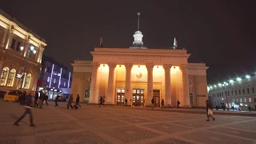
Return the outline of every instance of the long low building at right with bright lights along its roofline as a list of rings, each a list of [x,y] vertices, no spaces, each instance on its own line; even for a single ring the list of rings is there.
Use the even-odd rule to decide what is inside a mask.
[[[231,106],[240,106],[242,110],[248,110],[248,106],[252,106],[254,110],[256,109],[255,74],[211,84],[208,86],[208,90],[209,99],[215,107],[226,106],[231,108]]]

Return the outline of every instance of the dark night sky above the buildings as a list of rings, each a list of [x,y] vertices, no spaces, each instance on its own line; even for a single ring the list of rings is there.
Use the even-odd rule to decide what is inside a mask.
[[[11,0],[0,8],[46,39],[44,54],[72,69],[74,59],[91,60],[98,47],[129,48],[140,30],[148,48],[170,49],[174,37],[206,62],[209,83],[256,72],[256,1],[225,0]]]

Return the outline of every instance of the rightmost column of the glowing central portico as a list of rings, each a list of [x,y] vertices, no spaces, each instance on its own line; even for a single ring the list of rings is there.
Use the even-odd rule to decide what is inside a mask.
[[[189,82],[188,82],[188,73],[187,73],[187,65],[181,66],[182,70],[182,83],[183,83],[183,102],[184,107],[190,107],[190,94],[189,94]]]

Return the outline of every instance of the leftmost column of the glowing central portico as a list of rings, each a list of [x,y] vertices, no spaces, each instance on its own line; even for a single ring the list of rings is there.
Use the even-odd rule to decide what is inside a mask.
[[[94,62],[93,64],[93,70],[91,74],[91,81],[90,81],[90,97],[88,103],[94,103],[95,104],[95,98],[96,98],[96,82],[97,82],[97,73],[98,73],[98,62]]]

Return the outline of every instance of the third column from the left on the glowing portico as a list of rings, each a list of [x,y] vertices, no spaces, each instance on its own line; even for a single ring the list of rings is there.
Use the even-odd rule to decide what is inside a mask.
[[[131,89],[130,89],[130,74],[131,74],[131,68],[133,67],[133,64],[126,63],[126,93],[125,96],[127,98],[127,104],[131,105]]]

